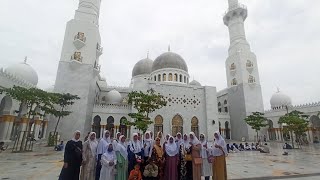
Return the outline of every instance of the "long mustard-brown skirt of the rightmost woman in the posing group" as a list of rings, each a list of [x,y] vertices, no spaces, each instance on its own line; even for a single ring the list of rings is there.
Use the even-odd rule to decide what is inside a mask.
[[[213,180],[227,180],[227,165],[225,156],[215,156],[212,163]]]

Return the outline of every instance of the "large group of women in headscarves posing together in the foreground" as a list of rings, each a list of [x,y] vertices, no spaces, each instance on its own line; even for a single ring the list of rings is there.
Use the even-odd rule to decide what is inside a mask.
[[[59,180],[226,180],[227,146],[219,132],[210,146],[204,134],[177,133],[175,137],[147,131],[130,141],[120,132],[96,139],[91,132],[80,141],[80,131],[67,142]]]

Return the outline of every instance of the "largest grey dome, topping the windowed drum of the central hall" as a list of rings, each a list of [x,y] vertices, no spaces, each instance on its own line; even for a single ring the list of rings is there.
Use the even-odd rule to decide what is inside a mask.
[[[186,62],[179,54],[173,52],[163,53],[153,62],[152,71],[164,68],[176,68],[188,72]]]

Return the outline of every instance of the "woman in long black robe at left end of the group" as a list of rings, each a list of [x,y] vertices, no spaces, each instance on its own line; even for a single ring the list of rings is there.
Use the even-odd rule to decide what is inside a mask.
[[[82,142],[80,131],[75,131],[73,138],[67,142],[64,151],[64,164],[59,180],[79,180],[80,166],[82,163]]]

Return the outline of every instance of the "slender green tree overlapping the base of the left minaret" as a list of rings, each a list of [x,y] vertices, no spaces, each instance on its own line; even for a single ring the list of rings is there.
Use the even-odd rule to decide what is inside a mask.
[[[75,100],[80,99],[77,95],[72,95],[69,93],[66,93],[66,94],[52,93],[52,94],[53,94],[53,102],[57,106],[57,108],[52,108],[51,106],[49,106],[49,108],[45,108],[45,109],[49,114],[52,114],[53,116],[57,117],[58,120],[53,132],[53,139],[54,139],[54,141],[52,142],[53,144],[50,143],[50,140],[49,140],[48,145],[56,145],[57,143],[56,133],[57,133],[57,128],[58,128],[60,119],[71,114],[72,112],[67,111],[66,108],[70,105],[73,105]],[[49,137],[49,139],[51,138],[52,137]]]

